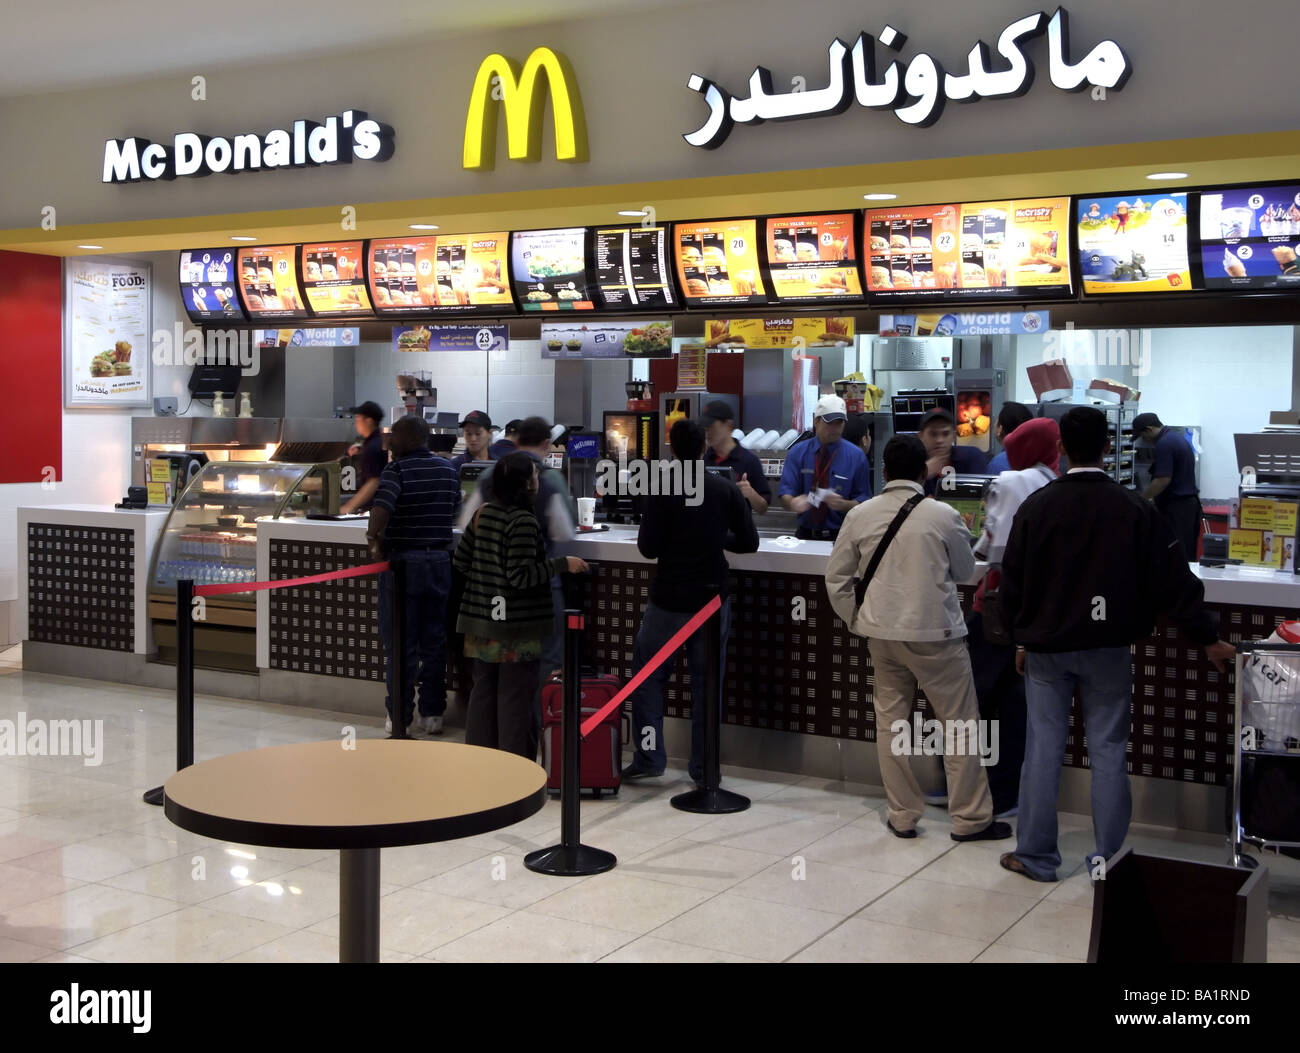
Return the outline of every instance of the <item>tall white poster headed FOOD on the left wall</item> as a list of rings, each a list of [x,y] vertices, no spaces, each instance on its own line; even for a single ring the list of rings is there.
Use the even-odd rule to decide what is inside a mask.
[[[151,406],[153,270],[150,264],[68,260],[64,269],[64,404]]]

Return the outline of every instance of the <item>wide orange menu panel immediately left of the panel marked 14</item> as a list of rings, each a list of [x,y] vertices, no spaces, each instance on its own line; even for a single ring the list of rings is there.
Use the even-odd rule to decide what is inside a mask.
[[[1072,294],[1069,198],[872,208],[866,222],[874,303]]]

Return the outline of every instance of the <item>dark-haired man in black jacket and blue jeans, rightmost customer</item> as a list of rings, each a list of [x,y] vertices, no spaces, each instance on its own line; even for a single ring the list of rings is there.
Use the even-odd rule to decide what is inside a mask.
[[[1002,556],[1002,618],[1020,647],[1028,734],[1015,852],[1001,863],[1037,881],[1054,881],[1061,866],[1057,790],[1075,689],[1088,733],[1092,867],[1119,852],[1132,815],[1132,645],[1165,614],[1219,670],[1236,654],[1218,638],[1200,578],[1164,517],[1101,471],[1108,429],[1091,407],[1061,419],[1071,468],[1019,507]]]

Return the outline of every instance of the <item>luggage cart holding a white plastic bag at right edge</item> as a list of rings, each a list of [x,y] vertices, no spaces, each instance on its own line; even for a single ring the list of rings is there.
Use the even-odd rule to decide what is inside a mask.
[[[1253,870],[1247,844],[1300,849],[1300,644],[1236,649],[1228,855]]]

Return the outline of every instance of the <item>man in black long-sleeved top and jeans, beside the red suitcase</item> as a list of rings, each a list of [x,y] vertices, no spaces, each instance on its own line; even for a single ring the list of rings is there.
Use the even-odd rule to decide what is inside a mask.
[[[632,667],[637,671],[649,664],[692,615],[720,594],[719,662],[725,668],[731,599],[727,595],[727,556],[723,551],[757,552],[758,530],[749,502],[736,484],[703,471],[705,429],[697,421],[679,420],[668,433],[668,442],[673,456],[685,469],[681,478],[692,482],[697,493],[651,497],[645,503],[637,549],[646,559],[659,560],[659,566],[650,584],[650,602],[641,619]],[[686,641],[693,699],[688,771],[697,784],[705,777],[705,630],[701,627]],[[663,748],[663,685],[675,664],[670,658],[632,694],[636,755],[623,770],[624,779],[654,777],[663,775],[667,767],[668,754]],[[720,697],[715,699],[715,705],[722,706]]]

